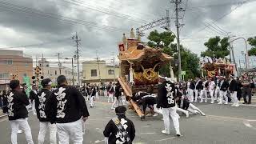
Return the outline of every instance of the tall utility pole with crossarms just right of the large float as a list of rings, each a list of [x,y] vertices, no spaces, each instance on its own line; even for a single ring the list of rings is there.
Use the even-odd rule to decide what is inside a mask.
[[[179,41],[179,28],[180,26],[183,26],[182,24],[179,24],[178,20],[180,19],[178,17],[178,12],[182,10],[182,8],[179,8],[179,4],[182,3],[182,0],[173,0],[171,3],[175,4],[175,25],[176,25],[176,38],[177,38],[177,50],[178,50],[178,81],[182,80],[182,58],[181,58],[181,49],[180,49],[180,41]]]

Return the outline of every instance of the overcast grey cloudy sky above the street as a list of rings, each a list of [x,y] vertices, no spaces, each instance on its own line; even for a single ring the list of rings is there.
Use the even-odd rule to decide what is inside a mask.
[[[182,0],[180,6],[186,8],[179,15],[185,24],[182,45],[196,54],[206,50],[207,38],[216,35],[256,35],[255,0]],[[122,33],[128,36],[131,27],[165,17],[166,10],[174,17],[169,0],[0,0],[0,47],[26,46],[9,49],[24,50],[33,57],[44,54],[52,60],[58,52],[62,58],[72,57],[75,42],[71,38],[77,32],[82,60],[98,55],[110,61],[118,54]],[[174,19],[171,30],[175,32]],[[237,60],[244,59],[242,40],[234,42],[234,50]]]

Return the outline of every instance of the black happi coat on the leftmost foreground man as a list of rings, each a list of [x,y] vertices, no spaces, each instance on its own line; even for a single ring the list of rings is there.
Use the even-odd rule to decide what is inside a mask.
[[[28,111],[26,106],[30,104],[26,94],[18,90],[10,90],[10,94],[7,96],[7,108],[9,120],[16,120],[19,118],[27,118]]]

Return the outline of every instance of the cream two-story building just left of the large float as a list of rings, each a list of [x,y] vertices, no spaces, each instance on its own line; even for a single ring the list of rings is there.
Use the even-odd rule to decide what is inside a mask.
[[[110,66],[106,61],[82,62],[82,83],[117,82],[119,66]]]

